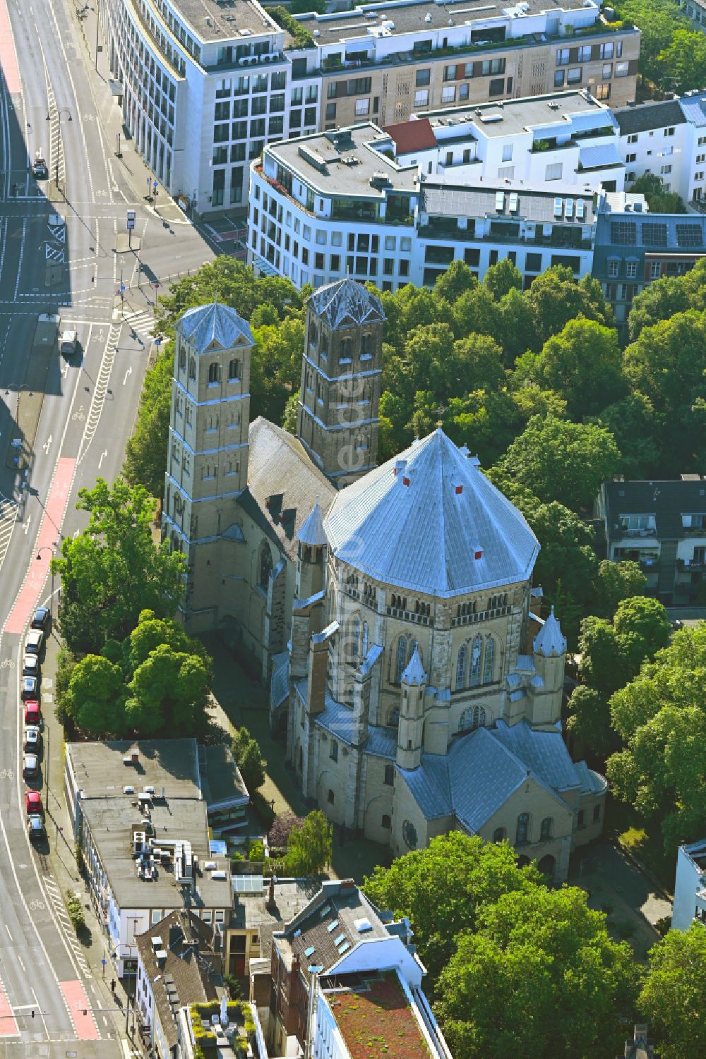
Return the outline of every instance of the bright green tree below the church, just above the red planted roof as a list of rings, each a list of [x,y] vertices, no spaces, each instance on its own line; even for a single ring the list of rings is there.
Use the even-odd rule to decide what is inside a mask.
[[[443,879],[443,886],[439,880]],[[364,882],[378,909],[408,916],[420,955],[436,979],[448,963],[456,939],[477,929],[480,910],[505,894],[536,893],[542,876],[535,865],[518,868],[507,843],[484,842],[452,831],[431,839],[388,867],[376,867]]]

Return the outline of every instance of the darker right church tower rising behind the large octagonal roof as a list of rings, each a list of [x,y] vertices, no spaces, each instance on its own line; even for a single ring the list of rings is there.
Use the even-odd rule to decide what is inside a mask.
[[[380,299],[348,277],[306,305],[297,436],[338,487],[377,463],[384,323]]]

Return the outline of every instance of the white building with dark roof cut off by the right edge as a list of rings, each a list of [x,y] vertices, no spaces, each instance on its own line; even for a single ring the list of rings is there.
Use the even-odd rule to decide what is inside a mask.
[[[625,187],[646,173],[684,202],[706,198],[706,92],[615,111]]]

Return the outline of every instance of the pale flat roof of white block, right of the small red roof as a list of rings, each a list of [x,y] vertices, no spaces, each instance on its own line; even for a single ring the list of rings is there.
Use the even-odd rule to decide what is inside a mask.
[[[576,114],[602,114],[608,125],[615,124],[611,110],[585,90],[481,103],[474,107],[444,107],[425,111],[420,116],[428,119],[433,128],[466,124],[475,126],[484,137],[507,137],[528,132],[537,126],[555,125],[558,132],[568,131]]]

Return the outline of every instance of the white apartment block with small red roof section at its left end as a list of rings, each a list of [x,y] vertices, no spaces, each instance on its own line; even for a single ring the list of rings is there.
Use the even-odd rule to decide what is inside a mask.
[[[586,89],[412,114],[388,125],[402,165],[425,175],[514,180],[533,187],[558,181],[584,191],[621,192],[624,162],[618,123]]]

